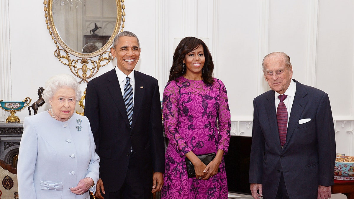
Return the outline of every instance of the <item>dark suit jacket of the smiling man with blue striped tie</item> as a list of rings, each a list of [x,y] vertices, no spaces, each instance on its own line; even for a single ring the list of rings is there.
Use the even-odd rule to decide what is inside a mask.
[[[127,173],[130,148],[143,186],[152,187],[154,172],[165,172],[158,81],[135,71],[132,127],[130,128],[115,69],[89,81],[85,115],[90,120],[100,178],[106,192],[118,191]]]

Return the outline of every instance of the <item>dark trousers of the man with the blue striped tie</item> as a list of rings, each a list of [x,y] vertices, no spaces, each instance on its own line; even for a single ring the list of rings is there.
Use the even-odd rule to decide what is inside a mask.
[[[102,193],[101,193],[102,194]],[[129,166],[123,186],[116,192],[102,194],[104,199],[150,199],[151,189],[145,189],[141,183],[138,167],[135,165],[134,155],[129,158]]]

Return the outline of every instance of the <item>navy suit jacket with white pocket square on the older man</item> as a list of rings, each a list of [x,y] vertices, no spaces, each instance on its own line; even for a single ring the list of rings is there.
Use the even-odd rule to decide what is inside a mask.
[[[335,130],[327,93],[296,80],[296,93],[281,148],[270,90],[253,101],[250,183],[262,184],[263,198],[273,199],[281,172],[291,199],[317,198],[318,185],[333,185]],[[299,124],[299,120],[310,121]]]

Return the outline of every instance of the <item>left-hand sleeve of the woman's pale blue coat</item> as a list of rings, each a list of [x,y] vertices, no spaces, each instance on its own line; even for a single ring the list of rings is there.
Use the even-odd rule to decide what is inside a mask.
[[[19,198],[36,199],[33,177],[37,152],[36,130],[32,120],[26,117],[23,122],[23,135],[18,152],[17,181]]]

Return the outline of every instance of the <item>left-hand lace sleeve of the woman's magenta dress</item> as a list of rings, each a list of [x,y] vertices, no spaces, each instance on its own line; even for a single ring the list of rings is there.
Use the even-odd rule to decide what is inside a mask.
[[[192,151],[183,137],[179,134],[179,111],[178,111],[178,86],[175,81],[170,81],[164,90],[162,97],[162,113],[164,116],[165,135],[170,140],[177,153],[183,157],[184,154]]]

